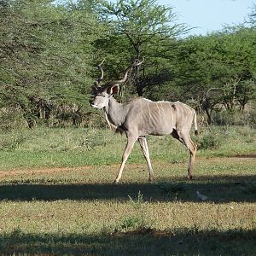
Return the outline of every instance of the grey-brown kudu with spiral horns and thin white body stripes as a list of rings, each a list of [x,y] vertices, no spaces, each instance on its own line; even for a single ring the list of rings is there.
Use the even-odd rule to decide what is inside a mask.
[[[191,140],[189,131],[194,121],[195,134],[197,133],[195,110],[182,102],[152,102],[143,97],[138,97],[121,104],[113,97],[119,91],[119,84],[123,84],[127,79],[129,70],[141,65],[142,62],[136,61],[130,67],[127,67],[123,79],[109,82],[103,86],[100,86],[103,79],[101,63],[98,65],[101,76],[96,79],[92,87],[94,98],[90,102],[91,107],[103,109],[108,124],[118,131],[125,132],[127,137],[125,152],[115,183],[119,182],[125,162],[136,141],[140,143],[143,155],[147,160],[149,181],[153,179],[154,173],[149,159],[146,135],[172,135],[183,143],[189,149],[188,177],[192,178],[191,171],[195,162],[196,144]]]

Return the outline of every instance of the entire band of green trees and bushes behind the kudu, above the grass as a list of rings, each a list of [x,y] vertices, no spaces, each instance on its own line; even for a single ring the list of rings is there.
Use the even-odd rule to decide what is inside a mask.
[[[142,57],[125,99],[181,100],[208,123],[255,124],[255,5],[243,24],[193,37],[155,0],[3,0],[0,9],[3,128],[94,122],[96,65],[106,59],[108,81]]]

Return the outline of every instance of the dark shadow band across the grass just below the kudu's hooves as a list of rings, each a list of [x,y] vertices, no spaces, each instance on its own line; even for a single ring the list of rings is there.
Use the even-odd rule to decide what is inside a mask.
[[[0,201],[56,200],[129,200],[143,194],[145,201],[200,201],[196,191],[207,201],[255,202],[256,176],[196,177],[192,181],[158,180],[154,183],[0,183]]]

